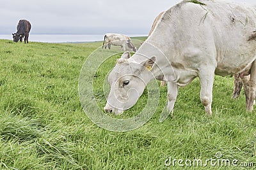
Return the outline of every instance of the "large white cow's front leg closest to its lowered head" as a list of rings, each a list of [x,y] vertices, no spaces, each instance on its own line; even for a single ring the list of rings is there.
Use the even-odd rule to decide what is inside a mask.
[[[168,87],[168,92],[167,92],[167,104],[164,107],[162,113],[161,113],[161,117],[159,118],[159,122],[163,122],[168,115],[170,115],[170,113],[172,112],[171,116],[173,117],[173,108],[174,108],[174,104],[175,101],[177,99],[178,96],[178,86],[177,83],[173,82],[173,81],[168,81],[167,82],[167,87]]]

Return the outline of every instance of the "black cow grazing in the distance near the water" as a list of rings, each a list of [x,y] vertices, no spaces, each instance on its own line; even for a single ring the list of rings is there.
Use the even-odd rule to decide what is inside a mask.
[[[29,35],[29,31],[31,29],[31,24],[29,23],[28,20],[20,20],[18,25],[17,25],[17,32],[13,33],[13,41],[14,42],[18,42],[20,40],[20,42],[22,42],[22,38],[24,38],[24,41],[26,43],[28,43],[28,35]]]

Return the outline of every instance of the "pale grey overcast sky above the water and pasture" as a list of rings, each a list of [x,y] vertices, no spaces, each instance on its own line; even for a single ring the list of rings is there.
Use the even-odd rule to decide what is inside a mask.
[[[6,0],[0,2],[0,34],[16,32],[20,19],[31,34],[148,34],[154,18],[180,0]],[[234,0],[256,4],[255,0]]]

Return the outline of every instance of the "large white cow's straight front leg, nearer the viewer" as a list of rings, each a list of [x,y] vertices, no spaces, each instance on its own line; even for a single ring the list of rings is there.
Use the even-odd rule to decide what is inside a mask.
[[[212,87],[214,81],[215,68],[211,66],[205,67],[200,70],[199,78],[201,85],[200,99],[201,103],[204,104],[205,112],[207,115],[212,115]]]

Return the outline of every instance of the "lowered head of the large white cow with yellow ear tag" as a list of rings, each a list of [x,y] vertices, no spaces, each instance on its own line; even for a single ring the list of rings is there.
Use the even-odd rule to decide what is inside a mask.
[[[135,63],[127,60],[130,56],[129,52],[125,52],[109,73],[111,89],[104,107],[107,113],[114,112],[118,115],[131,108],[138,101],[148,81],[152,79],[151,69],[156,57]]]

